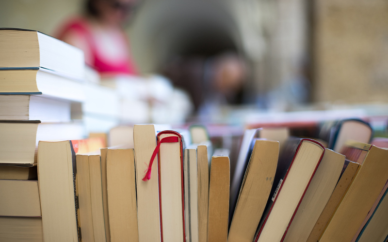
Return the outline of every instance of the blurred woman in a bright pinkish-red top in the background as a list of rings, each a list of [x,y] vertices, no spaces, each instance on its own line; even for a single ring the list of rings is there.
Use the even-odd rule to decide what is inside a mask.
[[[83,15],[69,19],[57,38],[84,51],[85,62],[102,76],[137,75],[124,25],[136,0],[86,0]]]

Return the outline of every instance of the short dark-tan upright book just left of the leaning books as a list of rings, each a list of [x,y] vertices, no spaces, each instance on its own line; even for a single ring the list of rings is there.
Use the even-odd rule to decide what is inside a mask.
[[[211,158],[208,242],[227,241],[229,210],[229,157]]]

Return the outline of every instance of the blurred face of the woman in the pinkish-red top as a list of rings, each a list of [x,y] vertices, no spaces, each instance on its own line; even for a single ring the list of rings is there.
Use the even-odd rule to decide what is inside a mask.
[[[134,10],[136,0],[97,0],[100,19],[108,25],[122,25]]]

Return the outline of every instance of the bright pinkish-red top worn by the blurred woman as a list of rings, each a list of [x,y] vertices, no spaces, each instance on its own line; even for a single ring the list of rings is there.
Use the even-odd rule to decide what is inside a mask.
[[[137,75],[136,67],[129,56],[129,41],[124,33],[115,35],[114,37],[118,42],[124,43],[121,56],[119,58],[107,58],[104,56],[101,50],[104,46],[101,46],[98,40],[98,35],[92,31],[92,28],[86,20],[82,18],[75,18],[67,22],[57,35],[58,39],[63,40],[69,32],[77,34],[78,37],[83,38],[87,43],[88,53],[91,55],[91,60],[87,61],[87,64],[95,68],[100,74],[108,75]],[[113,43],[111,43],[113,45]],[[121,51],[121,50],[120,50]],[[123,54],[124,58],[123,58]],[[90,63],[88,63],[90,62]]]

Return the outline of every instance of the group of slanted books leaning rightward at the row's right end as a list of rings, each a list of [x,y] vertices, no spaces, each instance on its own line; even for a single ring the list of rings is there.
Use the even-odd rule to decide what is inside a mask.
[[[265,128],[247,130],[244,137],[260,137],[262,131]],[[262,161],[269,148],[261,150],[257,161],[261,161],[261,170],[251,174],[254,178],[249,173],[255,167],[251,164],[254,157],[259,156],[255,148],[259,148],[251,148],[249,162],[237,161],[232,179],[227,241],[385,242],[388,239],[385,219],[388,211],[384,205],[388,203],[387,139],[372,139],[372,143],[384,147],[378,148],[367,144],[371,137],[370,125],[361,120],[326,123],[321,129],[321,139],[289,137],[281,142],[279,157],[274,159],[277,163],[274,175],[267,173],[262,178],[260,173],[266,167]],[[252,146],[255,138],[251,140]],[[264,141],[259,139],[259,142],[263,147]],[[240,152],[248,149],[243,144],[244,141]],[[268,153],[266,157],[270,157]],[[243,172],[239,172],[239,166]],[[267,181],[264,178],[273,179],[266,190],[260,188]],[[254,199],[254,194],[260,194],[262,200]],[[254,212],[258,213],[253,215]]]

